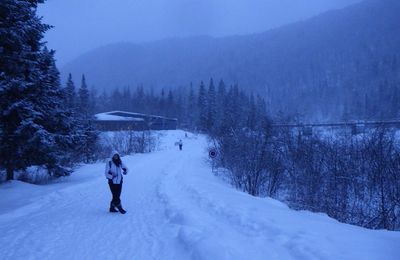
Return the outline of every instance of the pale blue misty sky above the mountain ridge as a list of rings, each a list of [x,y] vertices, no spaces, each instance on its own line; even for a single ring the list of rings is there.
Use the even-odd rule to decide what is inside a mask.
[[[47,0],[39,7],[59,65],[114,42],[262,32],[360,0]]]

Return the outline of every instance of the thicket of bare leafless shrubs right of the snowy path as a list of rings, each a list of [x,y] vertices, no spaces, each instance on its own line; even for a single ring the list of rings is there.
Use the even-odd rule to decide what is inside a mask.
[[[268,121],[267,121],[268,122]],[[373,229],[400,229],[400,145],[393,129],[304,135],[267,123],[213,138],[232,184],[296,209]]]

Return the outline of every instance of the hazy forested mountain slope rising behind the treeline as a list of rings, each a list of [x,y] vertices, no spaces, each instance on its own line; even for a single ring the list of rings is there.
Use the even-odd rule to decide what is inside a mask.
[[[260,34],[118,43],[81,56],[62,72],[64,78],[85,73],[98,89],[160,89],[213,77],[269,97],[273,111],[313,115],[342,115],[361,97],[363,112],[353,116],[366,117],[367,103],[380,106],[376,113],[387,110],[379,96],[388,94],[379,87],[398,86],[398,13],[398,1],[369,0]]]

